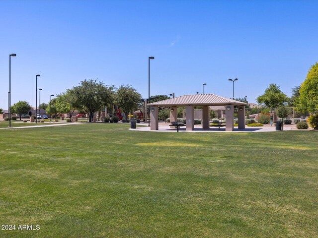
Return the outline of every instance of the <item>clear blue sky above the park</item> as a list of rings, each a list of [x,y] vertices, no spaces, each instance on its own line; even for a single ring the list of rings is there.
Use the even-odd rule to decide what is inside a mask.
[[[318,1],[0,1],[0,108],[35,106],[84,79],[151,95],[205,93],[256,102],[291,94],[318,61]]]

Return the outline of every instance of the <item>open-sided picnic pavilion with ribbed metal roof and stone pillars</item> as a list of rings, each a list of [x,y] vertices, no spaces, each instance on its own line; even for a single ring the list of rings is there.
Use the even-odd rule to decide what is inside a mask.
[[[159,129],[158,108],[170,109],[170,121],[177,121],[177,107],[185,107],[186,130],[194,130],[194,107],[202,107],[202,128],[209,129],[209,106],[225,106],[226,131],[234,130],[234,106],[238,106],[239,129],[245,128],[245,105],[230,98],[215,94],[191,94],[148,104],[150,106],[151,130]]]

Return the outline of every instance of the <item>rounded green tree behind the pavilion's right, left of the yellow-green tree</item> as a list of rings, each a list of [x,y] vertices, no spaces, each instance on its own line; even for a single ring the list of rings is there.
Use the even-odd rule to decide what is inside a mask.
[[[274,83],[269,84],[263,95],[258,96],[256,101],[268,108],[278,108],[285,105],[289,98],[283,93],[279,86]]]

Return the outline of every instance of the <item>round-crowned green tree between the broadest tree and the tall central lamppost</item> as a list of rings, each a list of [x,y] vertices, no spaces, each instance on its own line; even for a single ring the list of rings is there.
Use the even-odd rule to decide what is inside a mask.
[[[120,85],[116,92],[116,103],[126,115],[138,109],[141,95],[131,85]]]

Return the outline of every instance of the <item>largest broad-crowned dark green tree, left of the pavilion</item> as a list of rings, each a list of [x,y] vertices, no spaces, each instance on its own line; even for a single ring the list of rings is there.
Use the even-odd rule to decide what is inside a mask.
[[[91,122],[95,112],[112,105],[113,90],[114,86],[108,87],[95,79],[85,79],[80,82],[79,86],[70,90],[70,97],[74,104],[88,114],[89,122]]]

